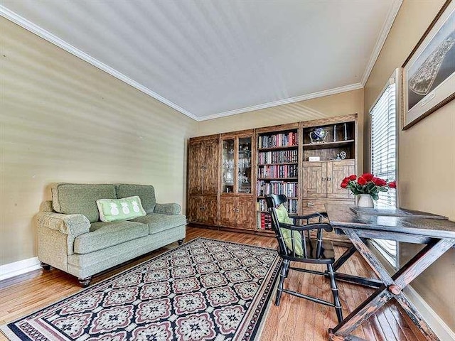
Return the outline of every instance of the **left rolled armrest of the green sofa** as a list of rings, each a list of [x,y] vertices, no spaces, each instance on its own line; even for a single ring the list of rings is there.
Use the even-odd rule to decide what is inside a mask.
[[[38,225],[55,229],[64,234],[77,236],[90,232],[90,221],[85,215],[63,215],[55,212],[39,212],[36,215]]]

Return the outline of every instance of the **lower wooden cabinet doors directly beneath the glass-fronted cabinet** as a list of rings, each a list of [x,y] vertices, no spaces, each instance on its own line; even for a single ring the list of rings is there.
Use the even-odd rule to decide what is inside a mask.
[[[255,199],[252,196],[221,195],[220,225],[255,229]]]

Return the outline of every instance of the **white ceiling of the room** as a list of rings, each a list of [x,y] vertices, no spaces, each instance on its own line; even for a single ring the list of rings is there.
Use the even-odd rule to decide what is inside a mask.
[[[2,16],[200,121],[363,87],[401,0],[0,4]]]

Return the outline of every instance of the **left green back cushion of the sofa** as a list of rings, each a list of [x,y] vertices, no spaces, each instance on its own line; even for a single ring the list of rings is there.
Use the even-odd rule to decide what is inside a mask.
[[[117,199],[115,185],[56,183],[52,186],[52,206],[65,215],[85,215],[90,222],[100,220],[98,199]]]

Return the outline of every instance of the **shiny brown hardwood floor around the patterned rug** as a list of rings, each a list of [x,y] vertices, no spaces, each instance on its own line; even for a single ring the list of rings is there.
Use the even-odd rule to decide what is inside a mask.
[[[272,237],[188,227],[186,240],[196,237],[207,237],[269,248],[275,248],[277,245],[276,240]],[[109,276],[119,273],[119,271],[128,269],[134,264],[175,247],[177,247],[177,243],[142,256],[116,269],[106,271],[95,276],[92,283],[98,283]],[[343,251],[342,247],[336,247],[337,256],[341,255]],[[358,276],[374,276],[369,271],[368,265],[357,254],[340,270]],[[328,282],[321,276],[290,271],[284,285],[291,290],[320,296],[328,301],[332,299]],[[350,311],[354,310],[357,305],[373,292],[372,289],[343,282],[339,282],[339,289],[344,316],[347,316]],[[32,313],[81,290],[77,278],[57,269],[52,269],[51,271],[37,270],[23,276],[1,281],[0,325],[21,318],[28,313]],[[279,307],[273,303],[269,305],[260,340],[328,340],[328,328],[335,325],[336,314],[333,308],[284,293]],[[355,330],[354,335],[371,341],[425,340],[406,313],[395,303],[385,305],[384,308]],[[4,335],[0,335],[0,340],[7,339]]]

